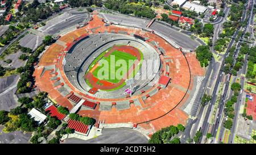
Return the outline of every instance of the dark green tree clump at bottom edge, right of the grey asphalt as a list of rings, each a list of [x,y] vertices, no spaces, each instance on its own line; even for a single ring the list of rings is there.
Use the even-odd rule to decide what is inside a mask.
[[[177,137],[174,137],[177,133],[185,131],[185,127],[182,124],[177,124],[177,127],[171,125],[170,127],[162,128],[159,131],[156,131],[152,136],[148,143],[151,144],[179,144],[180,140]]]

